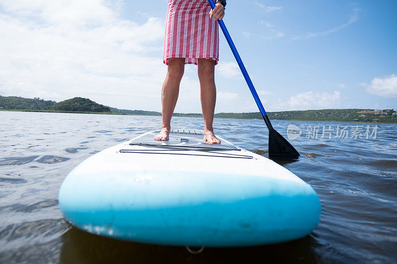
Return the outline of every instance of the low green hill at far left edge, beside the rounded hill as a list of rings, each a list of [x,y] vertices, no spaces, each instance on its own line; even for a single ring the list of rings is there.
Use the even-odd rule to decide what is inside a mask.
[[[42,110],[53,106],[55,101],[44,101],[40,98],[22,98],[17,96],[0,96],[0,108],[6,110]]]

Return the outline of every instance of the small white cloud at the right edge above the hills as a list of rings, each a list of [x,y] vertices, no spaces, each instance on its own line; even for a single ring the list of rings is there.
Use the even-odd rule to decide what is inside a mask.
[[[370,84],[361,83],[368,93],[387,98],[397,98],[397,76],[392,74],[383,78],[374,78]]]

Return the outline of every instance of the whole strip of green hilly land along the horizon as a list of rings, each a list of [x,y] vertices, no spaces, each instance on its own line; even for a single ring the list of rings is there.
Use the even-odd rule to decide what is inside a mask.
[[[88,98],[81,97],[74,97],[57,103],[40,98],[0,96],[0,110],[161,116],[161,112],[157,111],[119,109],[100,105]],[[172,116],[202,118],[201,113],[173,113]],[[397,111],[393,108],[290,110],[267,112],[267,116],[270,120],[397,124]],[[220,112],[214,114],[214,118],[262,119],[262,114],[260,112]]]

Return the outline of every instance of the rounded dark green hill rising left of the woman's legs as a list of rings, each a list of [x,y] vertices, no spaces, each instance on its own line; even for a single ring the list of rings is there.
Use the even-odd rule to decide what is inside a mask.
[[[45,110],[53,111],[79,111],[79,112],[110,112],[109,107],[99,105],[87,98],[75,97],[53,106],[46,107]]]

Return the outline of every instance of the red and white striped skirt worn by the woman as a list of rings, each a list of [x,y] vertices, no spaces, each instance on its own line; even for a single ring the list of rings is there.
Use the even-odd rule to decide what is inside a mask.
[[[209,18],[207,0],[168,0],[163,62],[185,58],[196,64],[198,58],[219,59],[218,22]]]

